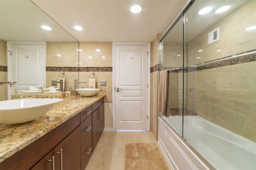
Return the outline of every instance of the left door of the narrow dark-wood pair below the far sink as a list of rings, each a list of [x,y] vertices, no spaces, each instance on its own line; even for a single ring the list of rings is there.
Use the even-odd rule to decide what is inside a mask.
[[[98,141],[100,140],[100,109],[92,113],[92,152],[94,152]]]

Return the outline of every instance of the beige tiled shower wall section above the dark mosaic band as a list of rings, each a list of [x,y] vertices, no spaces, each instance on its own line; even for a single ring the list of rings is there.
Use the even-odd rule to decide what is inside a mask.
[[[226,18],[190,40],[188,45],[194,46],[194,51],[196,52],[194,52],[194,63],[188,63],[188,65],[203,63],[256,49],[256,30],[245,30],[250,26],[255,26],[255,6],[255,0],[248,1]],[[208,33],[218,27],[220,28],[220,40],[208,45]],[[203,51],[198,52],[199,49]],[[218,49],[221,49],[221,51],[216,51]],[[197,59],[197,57],[201,58]]]

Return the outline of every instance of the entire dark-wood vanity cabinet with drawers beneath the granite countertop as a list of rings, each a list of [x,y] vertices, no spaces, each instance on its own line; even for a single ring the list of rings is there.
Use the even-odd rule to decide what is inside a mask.
[[[0,169],[84,170],[103,130],[104,97],[1,162]]]

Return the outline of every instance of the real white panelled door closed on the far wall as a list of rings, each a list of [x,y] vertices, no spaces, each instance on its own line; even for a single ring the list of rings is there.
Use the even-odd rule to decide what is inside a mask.
[[[115,129],[147,130],[148,45],[115,45]]]

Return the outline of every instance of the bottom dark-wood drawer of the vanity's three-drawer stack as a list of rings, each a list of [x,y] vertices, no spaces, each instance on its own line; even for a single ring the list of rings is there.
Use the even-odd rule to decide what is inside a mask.
[[[87,140],[84,147],[81,149],[81,170],[84,170],[92,156],[92,135]]]

